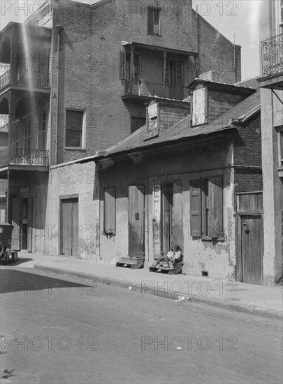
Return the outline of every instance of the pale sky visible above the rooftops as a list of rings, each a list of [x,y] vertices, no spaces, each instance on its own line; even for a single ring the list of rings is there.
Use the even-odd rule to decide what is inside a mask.
[[[0,30],[8,22],[22,22],[31,13],[36,13],[44,1],[0,0]],[[95,3],[99,0],[76,1]],[[232,42],[235,38],[235,43],[242,46],[242,80],[259,75],[260,5],[261,0],[193,0],[194,9],[198,6],[198,13],[205,20],[226,38]]]

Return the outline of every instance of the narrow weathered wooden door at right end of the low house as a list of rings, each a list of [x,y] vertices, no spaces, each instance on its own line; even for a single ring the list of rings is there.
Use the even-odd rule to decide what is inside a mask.
[[[240,216],[242,282],[262,284],[263,239],[261,215]]]

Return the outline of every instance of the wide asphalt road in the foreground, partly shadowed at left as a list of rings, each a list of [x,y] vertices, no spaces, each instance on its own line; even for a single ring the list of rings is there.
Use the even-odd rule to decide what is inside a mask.
[[[1,267],[1,383],[282,383],[282,322]]]

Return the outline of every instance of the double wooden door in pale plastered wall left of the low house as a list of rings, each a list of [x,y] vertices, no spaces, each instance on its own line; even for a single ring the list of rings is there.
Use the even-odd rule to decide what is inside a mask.
[[[78,198],[61,200],[61,253],[78,256]]]

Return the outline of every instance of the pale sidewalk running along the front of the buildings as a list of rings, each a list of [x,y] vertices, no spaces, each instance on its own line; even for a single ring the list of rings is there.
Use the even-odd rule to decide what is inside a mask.
[[[22,263],[15,268],[36,269],[78,279],[92,280],[109,286],[173,298],[180,302],[201,302],[216,307],[282,318],[283,287],[254,286],[235,281],[192,275],[168,275],[145,269],[129,269],[70,257],[19,253]],[[29,260],[31,259],[31,260]],[[27,260],[24,262],[24,260]]]

